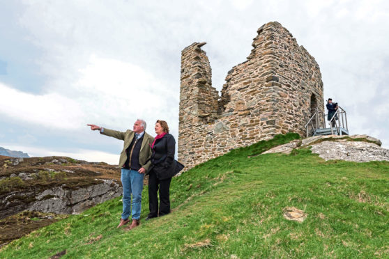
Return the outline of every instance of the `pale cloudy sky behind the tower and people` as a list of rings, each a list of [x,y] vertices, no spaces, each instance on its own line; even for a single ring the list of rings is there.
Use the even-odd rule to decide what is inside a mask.
[[[0,146],[117,164],[123,143],[87,123],[144,118],[155,135],[165,119],[177,139],[181,50],[207,42],[220,91],[273,21],[316,58],[351,134],[389,148],[389,3],[374,0],[0,0]]]

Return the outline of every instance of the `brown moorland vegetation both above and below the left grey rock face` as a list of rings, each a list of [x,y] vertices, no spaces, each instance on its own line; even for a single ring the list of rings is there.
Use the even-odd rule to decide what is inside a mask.
[[[31,231],[67,217],[53,213],[24,211],[35,201],[34,195],[45,189],[63,187],[78,189],[101,182],[100,179],[120,183],[120,169],[105,163],[89,163],[70,157],[13,158],[0,156],[0,246]],[[8,197],[6,199],[6,197]],[[43,199],[52,198],[50,196]],[[11,215],[11,216],[10,216]]]

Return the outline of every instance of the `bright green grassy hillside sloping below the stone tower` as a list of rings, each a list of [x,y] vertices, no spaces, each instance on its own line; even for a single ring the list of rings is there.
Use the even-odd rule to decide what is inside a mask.
[[[389,258],[389,162],[258,155],[296,134],[233,150],[171,182],[173,212],[124,232],[116,198],[12,242],[0,258]],[[286,207],[307,213],[287,221]]]

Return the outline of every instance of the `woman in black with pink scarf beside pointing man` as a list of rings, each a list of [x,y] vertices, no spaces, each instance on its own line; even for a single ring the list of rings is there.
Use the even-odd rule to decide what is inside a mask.
[[[146,220],[170,213],[169,188],[171,178],[184,167],[174,160],[176,141],[169,134],[169,127],[165,120],[157,120],[155,123],[155,136],[151,144],[151,164],[153,166],[148,177],[148,207],[150,213]],[[160,204],[158,210],[158,192]]]

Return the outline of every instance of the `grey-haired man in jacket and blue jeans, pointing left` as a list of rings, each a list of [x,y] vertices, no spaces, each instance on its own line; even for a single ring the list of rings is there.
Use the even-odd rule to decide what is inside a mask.
[[[131,230],[140,224],[143,179],[151,166],[151,144],[154,138],[145,132],[146,122],[141,119],[137,119],[132,130],[126,132],[109,130],[93,124],[88,124],[88,126],[91,130],[99,130],[100,134],[124,141],[119,159],[123,185],[123,213],[117,228],[130,222],[131,212],[132,223],[125,228],[125,230]]]

